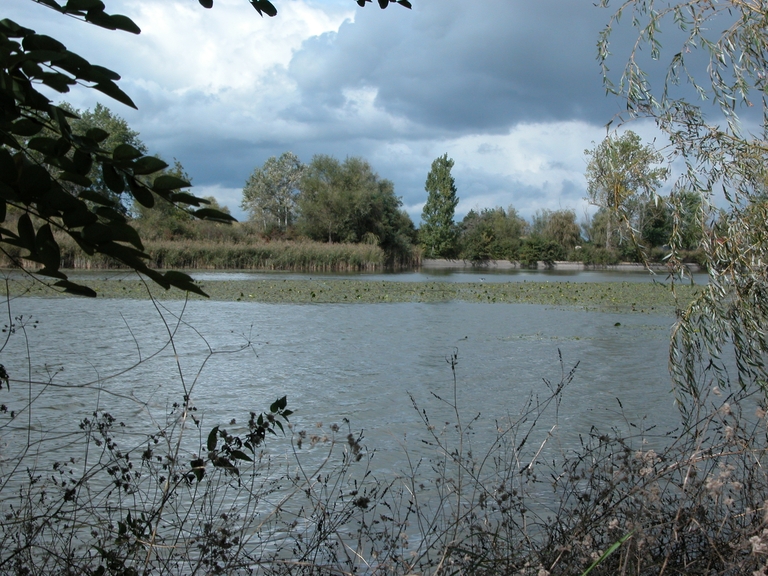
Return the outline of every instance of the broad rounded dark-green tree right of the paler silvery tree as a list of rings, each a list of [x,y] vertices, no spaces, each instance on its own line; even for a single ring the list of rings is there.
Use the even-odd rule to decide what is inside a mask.
[[[410,254],[413,223],[394,185],[362,158],[316,155],[301,183],[298,229],[313,240],[371,242],[388,257]]]

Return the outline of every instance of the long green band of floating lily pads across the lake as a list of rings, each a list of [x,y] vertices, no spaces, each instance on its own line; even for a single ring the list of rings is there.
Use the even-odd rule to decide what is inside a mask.
[[[80,280],[79,280],[80,281]],[[99,298],[180,300],[179,290],[163,290],[151,282],[132,278],[86,280]],[[14,296],[64,297],[39,282],[9,281]],[[391,302],[527,303],[595,310],[669,312],[684,306],[697,287],[678,285],[675,302],[668,285],[655,282],[390,282],[342,279],[221,280],[199,286],[212,300],[280,304],[376,304]],[[5,291],[5,286],[2,286]],[[66,296],[72,297],[72,296]],[[191,299],[204,299],[190,295]]]

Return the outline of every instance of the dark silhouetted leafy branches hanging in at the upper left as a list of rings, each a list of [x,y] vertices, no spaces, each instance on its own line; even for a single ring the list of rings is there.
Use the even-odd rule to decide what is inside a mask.
[[[47,0],[44,4],[104,28],[139,33],[129,18],[107,14],[101,2],[61,6]],[[52,104],[36,88],[43,84],[66,93],[80,84],[135,107],[115,83],[120,76],[89,63],[61,42],[7,19],[0,21],[0,63],[0,220],[5,220],[9,208],[21,213],[16,230],[0,228],[0,250],[20,264],[13,255],[20,249],[25,260],[41,266],[38,274],[57,280],[54,286],[93,296],[61,272],[56,230],[69,235],[85,253],[114,258],[164,288],[200,293],[189,276],[160,274],[146,265],[141,238],[127,222],[125,203],[116,198],[128,197],[151,207],[158,195],[198,217],[211,215],[194,210],[207,202],[179,193],[189,183],[158,175],[166,164],[140,147],[121,142],[110,149],[110,134],[98,126],[77,133],[76,121],[107,120],[106,115],[101,118],[103,110],[98,110],[99,118],[81,120],[66,107]],[[123,137],[130,140],[131,135],[126,132]],[[94,174],[97,180],[92,179]]]

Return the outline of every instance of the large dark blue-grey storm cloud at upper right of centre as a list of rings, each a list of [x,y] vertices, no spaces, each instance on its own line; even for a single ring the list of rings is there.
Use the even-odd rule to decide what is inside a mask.
[[[305,42],[289,73],[305,118],[343,107],[345,89],[372,87],[377,107],[454,133],[523,121],[605,123],[617,103],[605,97],[595,46],[609,15],[562,0],[361,10],[338,33]]]

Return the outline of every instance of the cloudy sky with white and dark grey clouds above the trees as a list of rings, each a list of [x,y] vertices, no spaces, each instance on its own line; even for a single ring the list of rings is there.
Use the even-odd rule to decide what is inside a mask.
[[[586,210],[584,150],[622,111],[607,96],[596,42],[609,9],[587,0],[104,0],[140,35],[3,0],[2,17],[118,72],[138,111],[83,87],[55,101],[97,102],[152,153],[181,161],[198,196],[238,219],[253,170],[285,151],[362,157],[394,183],[417,223],[432,161],[447,153],[469,210]],[[619,52],[621,46],[617,49]],[[617,66],[620,62],[617,62]],[[646,142],[651,125],[630,126]]]

